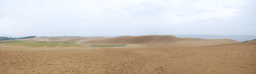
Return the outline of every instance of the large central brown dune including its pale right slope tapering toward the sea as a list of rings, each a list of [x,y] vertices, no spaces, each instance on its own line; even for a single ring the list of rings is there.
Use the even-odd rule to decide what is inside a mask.
[[[239,43],[231,39],[200,39],[200,38],[178,38],[171,35],[148,35],[148,36],[120,36],[113,38],[101,38],[80,41],[79,43],[93,44],[169,44],[172,46],[204,46],[222,43]]]

